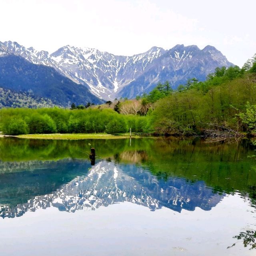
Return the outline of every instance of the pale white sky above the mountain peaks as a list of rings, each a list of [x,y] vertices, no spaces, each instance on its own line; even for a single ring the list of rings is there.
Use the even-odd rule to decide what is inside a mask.
[[[0,41],[116,55],[210,44],[242,66],[256,53],[255,10],[256,0],[0,0]]]

